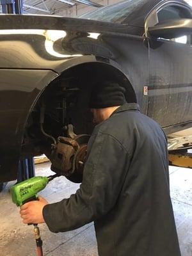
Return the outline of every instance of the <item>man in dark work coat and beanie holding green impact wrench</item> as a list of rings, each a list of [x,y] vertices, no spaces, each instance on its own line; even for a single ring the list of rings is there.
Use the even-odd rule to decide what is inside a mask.
[[[66,232],[94,221],[100,256],[180,256],[163,130],[118,83],[97,84],[90,108],[98,125],[80,188],[55,204],[24,204],[23,222]]]

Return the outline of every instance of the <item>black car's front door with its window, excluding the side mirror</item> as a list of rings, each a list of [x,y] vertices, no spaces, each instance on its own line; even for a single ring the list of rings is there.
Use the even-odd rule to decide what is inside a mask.
[[[157,6],[145,24],[192,19],[191,8],[170,1]],[[149,38],[148,116],[163,127],[192,120],[192,36]]]

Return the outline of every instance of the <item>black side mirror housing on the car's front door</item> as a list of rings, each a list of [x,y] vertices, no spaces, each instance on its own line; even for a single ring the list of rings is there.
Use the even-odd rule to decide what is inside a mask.
[[[192,35],[192,19],[166,20],[148,28],[148,34],[156,38],[172,39]]]

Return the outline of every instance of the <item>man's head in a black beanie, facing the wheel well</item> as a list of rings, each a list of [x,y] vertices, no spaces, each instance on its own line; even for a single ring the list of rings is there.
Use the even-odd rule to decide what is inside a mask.
[[[125,104],[125,102],[125,88],[118,83],[106,81],[95,84],[90,97],[93,122],[99,124],[106,120],[117,108]]]

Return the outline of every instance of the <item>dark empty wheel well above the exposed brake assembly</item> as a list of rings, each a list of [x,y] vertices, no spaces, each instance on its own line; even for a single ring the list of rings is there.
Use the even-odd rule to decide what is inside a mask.
[[[108,63],[83,63],[68,68],[45,88],[37,100],[28,118],[24,136],[25,147],[22,147],[22,152],[30,152],[33,156],[45,153],[47,143],[43,149],[42,145],[46,138],[40,130],[42,104],[45,105],[44,130],[55,139],[58,136],[65,136],[63,127],[66,124],[73,124],[76,134],[91,134],[92,115],[88,110],[91,84],[94,81],[97,85],[104,80],[116,81],[124,86],[127,102],[137,102],[136,93],[127,77]],[[50,140],[49,147],[51,148]]]

